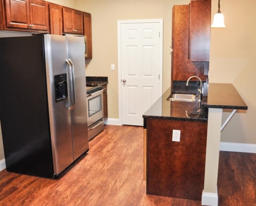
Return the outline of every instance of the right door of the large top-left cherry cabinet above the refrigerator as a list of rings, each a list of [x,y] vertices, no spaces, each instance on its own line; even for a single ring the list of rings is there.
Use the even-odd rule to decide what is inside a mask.
[[[42,0],[31,0],[29,9],[32,29],[49,30],[48,3]]]

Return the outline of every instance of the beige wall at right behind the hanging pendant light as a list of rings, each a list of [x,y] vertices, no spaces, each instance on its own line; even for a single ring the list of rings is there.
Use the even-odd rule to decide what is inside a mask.
[[[221,132],[221,142],[256,144],[256,1],[221,1],[226,28],[211,29],[209,82],[232,83],[248,106]],[[212,1],[212,15],[218,0]],[[224,110],[222,122],[232,110]]]

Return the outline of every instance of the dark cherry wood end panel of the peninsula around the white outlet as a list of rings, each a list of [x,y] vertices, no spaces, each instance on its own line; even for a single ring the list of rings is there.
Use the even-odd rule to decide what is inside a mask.
[[[146,194],[201,201],[207,122],[147,118],[146,138]]]

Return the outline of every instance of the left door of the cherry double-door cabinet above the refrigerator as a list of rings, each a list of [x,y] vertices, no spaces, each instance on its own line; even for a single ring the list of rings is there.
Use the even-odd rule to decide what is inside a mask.
[[[5,8],[7,27],[31,28],[28,0],[6,0]]]

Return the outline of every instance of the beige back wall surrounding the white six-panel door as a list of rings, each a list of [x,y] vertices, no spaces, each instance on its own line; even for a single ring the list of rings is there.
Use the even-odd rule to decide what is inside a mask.
[[[78,0],[77,7],[92,13],[93,59],[87,76],[108,76],[108,116],[118,118],[117,21],[163,19],[163,92],[171,83],[172,7],[189,0]],[[115,71],[111,71],[115,64]]]

